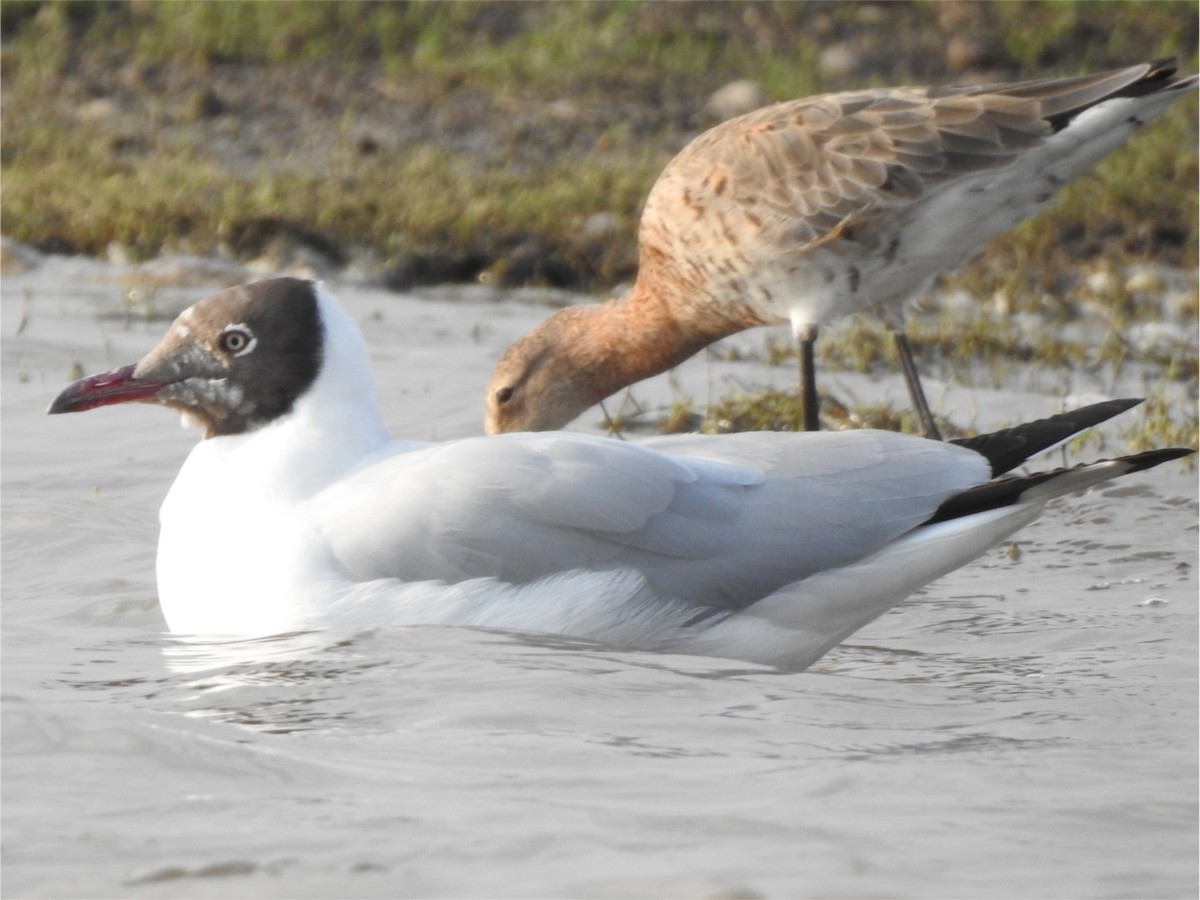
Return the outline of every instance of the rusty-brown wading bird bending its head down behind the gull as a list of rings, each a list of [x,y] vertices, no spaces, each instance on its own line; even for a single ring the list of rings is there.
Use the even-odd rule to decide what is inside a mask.
[[[714,341],[790,323],[805,427],[816,431],[818,329],[871,311],[893,332],[922,432],[938,437],[905,302],[1195,85],[1162,61],[1019,84],[827,94],[718,125],[650,190],[632,292],[559,310],[509,347],[487,385],[485,428],[562,428]]]

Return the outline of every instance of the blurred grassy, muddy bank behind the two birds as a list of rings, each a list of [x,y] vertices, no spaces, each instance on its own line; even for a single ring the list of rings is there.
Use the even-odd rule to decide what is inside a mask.
[[[282,235],[414,282],[630,277],[650,184],[738,78],[782,100],[1196,65],[1194,2],[7,0],[2,16],[6,234],[241,259]],[[972,289],[1102,253],[1194,266],[1196,116],[1178,107],[997,242]]]

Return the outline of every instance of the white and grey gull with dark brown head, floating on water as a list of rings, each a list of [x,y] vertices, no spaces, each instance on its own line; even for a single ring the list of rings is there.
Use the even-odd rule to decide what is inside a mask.
[[[160,403],[204,438],[162,506],[172,631],[440,623],[803,668],[1052,497],[1189,450],[996,480],[1129,408],[940,443],[880,431],[389,439],[354,322],[275,278],[182,312],[50,413]]]

